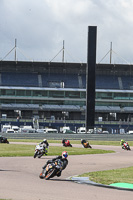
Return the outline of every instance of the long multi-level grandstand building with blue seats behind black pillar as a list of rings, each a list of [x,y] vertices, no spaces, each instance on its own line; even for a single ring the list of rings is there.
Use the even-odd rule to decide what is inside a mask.
[[[0,116],[85,120],[86,63],[1,61]],[[132,121],[133,66],[96,64],[95,120]]]

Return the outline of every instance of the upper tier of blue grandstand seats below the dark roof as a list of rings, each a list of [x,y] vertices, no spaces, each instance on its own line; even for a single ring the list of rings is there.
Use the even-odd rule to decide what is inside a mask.
[[[121,80],[121,86],[119,80]],[[2,72],[0,74],[1,86],[42,86],[58,88],[61,87],[62,82],[64,83],[64,88],[86,88],[86,75],[42,73],[38,76],[37,73],[9,72]],[[96,75],[96,89],[133,89],[133,77]]]

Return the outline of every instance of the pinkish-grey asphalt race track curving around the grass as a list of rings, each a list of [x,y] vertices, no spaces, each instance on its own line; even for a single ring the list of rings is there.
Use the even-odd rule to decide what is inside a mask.
[[[73,147],[77,146],[73,145]],[[52,157],[44,156],[41,159],[0,157],[0,198],[12,200],[132,200],[132,191],[78,184],[67,180],[68,177],[84,172],[133,166],[133,150],[124,151],[118,146],[98,145],[93,145],[92,148],[115,150],[116,153],[69,156],[69,164],[62,172],[62,176],[48,181],[40,179],[39,173],[45,162]]]

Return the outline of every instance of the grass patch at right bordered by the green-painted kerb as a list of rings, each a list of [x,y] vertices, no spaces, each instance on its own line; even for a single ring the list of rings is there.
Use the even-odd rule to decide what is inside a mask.
[[[112,183],[132,183],[133,184],[133,167],[121,168],[115,170],[105,170],[89,172],[79,175],[79,177],[89,177],[91,181],[110,185]]]

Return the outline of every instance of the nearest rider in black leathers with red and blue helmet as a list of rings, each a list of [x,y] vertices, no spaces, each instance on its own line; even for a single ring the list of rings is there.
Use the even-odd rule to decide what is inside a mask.
[[[57,174],[57,176],[59,177],[59,176],[61,176],[62,170],[64,170],[66,168],[66,166],[68,165],[67,157],[68,157],[67,151],[63,151],[61,156],[57,156],[56,158],[53,158],[52,160],[48,160],[47,163],[44,165],[43,169],[46,168],[47,164],[50,164],[56,160],[60,160],[63,163],[63,166],[62,166],[62,169],[60,169]]]

